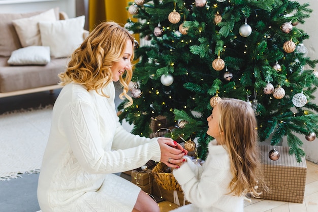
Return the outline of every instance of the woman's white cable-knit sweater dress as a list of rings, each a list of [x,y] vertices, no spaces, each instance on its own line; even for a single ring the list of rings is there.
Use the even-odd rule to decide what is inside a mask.
[[[110,98],[79,84],[62,88],[39,176],[42,212],[131,212],[140,188],[112,173],[160,161],[157,138],[139,137],[121,127],[113,83],[105,93]]]

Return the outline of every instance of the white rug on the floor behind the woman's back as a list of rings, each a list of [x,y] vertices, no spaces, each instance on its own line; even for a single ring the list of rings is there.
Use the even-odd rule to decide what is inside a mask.
[[[0,115],[0,180],[39,172],[52,106]]]

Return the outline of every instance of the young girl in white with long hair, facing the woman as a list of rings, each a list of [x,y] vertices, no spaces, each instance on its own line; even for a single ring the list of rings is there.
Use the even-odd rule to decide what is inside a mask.
[[[242,100],[223,99],[207,118],[209,155],[201,166],[188,157],[173,174],[192,204],[177,211],[243,211],[247,193],[255,188],[259,174],[257,121],[251,106]]]

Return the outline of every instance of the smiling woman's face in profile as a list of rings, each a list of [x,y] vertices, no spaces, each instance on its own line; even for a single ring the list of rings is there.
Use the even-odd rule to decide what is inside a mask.
[[[125,70],[131,66],[131,57],[133,55],[133,44],[131,40],[127,40],[126,48],[124,50],[122,58],[118,62],[115,62],[110,70],[113,72],[113,81],[117,82],[119,76],[122,75]]]

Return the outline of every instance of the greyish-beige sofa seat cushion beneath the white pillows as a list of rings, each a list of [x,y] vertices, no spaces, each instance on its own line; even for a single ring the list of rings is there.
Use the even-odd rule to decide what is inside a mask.
[[[59,82],[57,75],[66,70],[69,59],[51,59],[46,66],[10,66],[9,57],[0,57],[0,92],[12,92]]]

